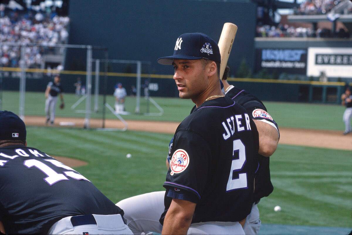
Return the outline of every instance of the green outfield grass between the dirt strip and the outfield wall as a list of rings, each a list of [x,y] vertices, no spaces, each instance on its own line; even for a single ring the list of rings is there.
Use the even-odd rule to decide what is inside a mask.
[[[11,110],[18,113],[19,94],[18,92],[3,91],[3,110]],[[102,118],[103,97],[100,96],[100,112],[92,114],[92,118]],[[154,120],[154,121],[176,121],[181,122],[189,114],[193,103],[190,100],[179,98],[153,97],[155,101],[164,109],[163,116],[144,116],[134,114],[136,107],[135,97],[126,98],[126,111],[132,115],[123,116],[126,120]],[[66,107],[61,110],[57,108],[57,116],[62,117],[84,117],[82,113],[75,113],[70,107],[78,100],[74,94],[65,94]],[[25,115],[44,115],[45,97],[44,93],[27,92],[25,99]],[[113,107],[114,97],[107,96],[107,102]],[[279,127],[294,127],[307,129],[327,129],[344,131],[342,114],[345,108],[334,104],[308,104],[308,103],[284,103],[265,102],[269,114],[278,123]],[[146,112],[146,100],[141,98],[141,112]],[[93,107],[93,99],[92,99]],[[76,109],[85,109],[85,102],[82,102]],[[150,104],[150,112],[157,113],[158,110]],[[106,118],[116,117],[107,110]]]

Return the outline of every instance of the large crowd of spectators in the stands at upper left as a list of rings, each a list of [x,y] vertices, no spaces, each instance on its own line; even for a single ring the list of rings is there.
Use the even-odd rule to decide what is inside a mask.
[[[47,46],[26,47],[24,61],[27,68],[43,68],[43,55],[58,51],[53,44],[67,43],[69,18],[55,12],[28,10],[20,13],[14,10],[5,12],[0,4],[0,42],[40,43]],[[19,67],[20,46],[1,45],[0,65]]]

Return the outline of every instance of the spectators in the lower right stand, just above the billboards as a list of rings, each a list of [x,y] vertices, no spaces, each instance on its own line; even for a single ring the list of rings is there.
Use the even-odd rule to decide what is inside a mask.
[[[293,27],[279,24],[278,26],[263,25],[257,26],[256,37],[283,38],[283,37],[318,37],[318,38],[349,38],[350,35],[343,28],[340,28],[335,35],[327,28],[318,28],[313,31],[311,28]]]

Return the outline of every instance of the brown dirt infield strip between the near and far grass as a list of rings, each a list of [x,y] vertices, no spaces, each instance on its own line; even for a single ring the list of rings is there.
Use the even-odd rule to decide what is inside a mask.
[[[59,123],[72,122],[74,127],[83,127],[84,119],[82,118],[56,118],[55,126]],[[27,126],[45,126],[45,117],[26,116],[25,123]],[[154,122],[154,121],[133,121],[128,120],[128,130],[147,131],[157,133],[175,133],[179,123],[177,122]],[[101,120],[91,119],[90,127],[100,128]],[[106,120],[107,128],[123,128],[124,126],[118,120]],[[342,131],[325,131],[314,129],[298,128],[280,128],[279,144],[309,146],[319,148],[332,148],[339,150],[352,150],[352,134],[342,135]]]

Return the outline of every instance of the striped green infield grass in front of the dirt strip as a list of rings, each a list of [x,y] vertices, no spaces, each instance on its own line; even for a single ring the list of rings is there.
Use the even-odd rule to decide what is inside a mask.
[[[46,127],[27,132],[29,146],[88,161],[77,170],[113,202],[163,190],[170,134]],[[259,203],[263,223],[352,226],[351,151],[279,145],[270,162],[275,189]],[[282,211],[274,212],[275,205]]]

